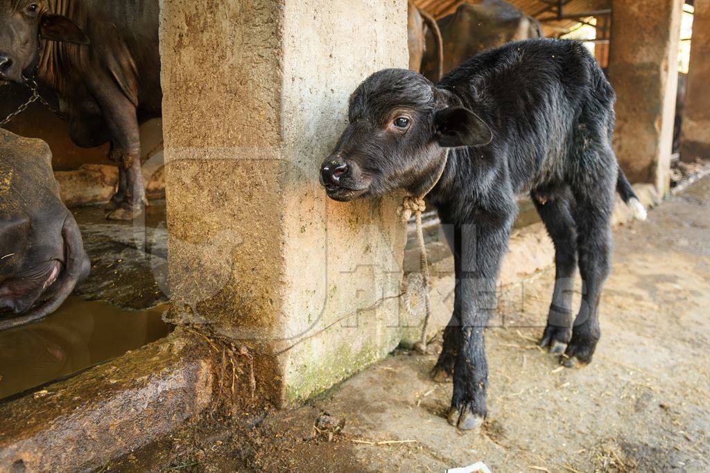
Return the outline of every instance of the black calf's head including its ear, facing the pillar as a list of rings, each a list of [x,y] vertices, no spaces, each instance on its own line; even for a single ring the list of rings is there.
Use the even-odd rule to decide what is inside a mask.
[[[349,103],[349,125],[323,162],[328,196],[350,201],[394,189],[416,193],[432,179],[446,148],[490,143],[484,121],[421,74],[385,69]]]

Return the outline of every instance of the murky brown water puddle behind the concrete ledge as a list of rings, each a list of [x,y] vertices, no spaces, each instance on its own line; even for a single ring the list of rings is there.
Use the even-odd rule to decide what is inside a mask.
[[[40,323],[0,332],[0,399],[67,377],[165,337],[161,304],[125,311],[72,296]]]

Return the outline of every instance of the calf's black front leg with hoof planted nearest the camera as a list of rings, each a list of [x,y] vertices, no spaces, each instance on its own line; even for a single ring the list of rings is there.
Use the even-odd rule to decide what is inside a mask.
[[[486,418],[485,330],[496,304],[496,281],[510,235],[512,218],[500,223],[454,228],[456,289],[454,318],[459,322],[454,361],[454,394],[447,420],[462,430],[478,428]]]

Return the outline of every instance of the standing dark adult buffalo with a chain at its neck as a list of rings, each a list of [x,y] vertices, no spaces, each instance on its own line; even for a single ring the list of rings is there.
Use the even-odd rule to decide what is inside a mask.
[[[0,0],[0,82],[36,77],[77,145],[111,143],[109,219],[146,205],[138,126],[161,111],[158,13],[158,0]]]

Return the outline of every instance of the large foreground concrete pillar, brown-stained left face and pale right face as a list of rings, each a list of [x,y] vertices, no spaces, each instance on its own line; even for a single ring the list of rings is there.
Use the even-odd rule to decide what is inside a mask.
[[[304,399],[400,340],[398,198],[329,201],[317,172],[357,84],[407,67],[407,1],[160,5],[172,316]]]

